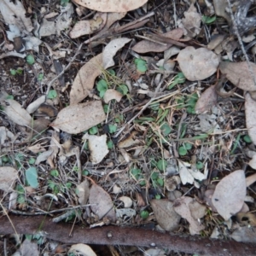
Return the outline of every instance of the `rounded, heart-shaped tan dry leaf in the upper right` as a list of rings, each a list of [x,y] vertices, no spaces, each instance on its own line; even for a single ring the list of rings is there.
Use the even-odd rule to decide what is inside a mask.
[[[177,55],[177,61],[186,79],[203,80],[216,72],[218,55],[206,48],[195,49],[188,46]]]

